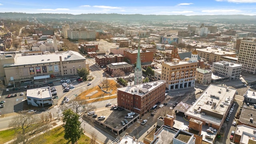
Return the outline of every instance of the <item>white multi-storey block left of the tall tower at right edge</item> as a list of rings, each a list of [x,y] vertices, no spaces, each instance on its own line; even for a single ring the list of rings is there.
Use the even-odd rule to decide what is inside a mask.
[[[212,72],[229,76],[229,80],[240,78],[241,71],[242,64],[235,64],[226,61],[212,63]]]

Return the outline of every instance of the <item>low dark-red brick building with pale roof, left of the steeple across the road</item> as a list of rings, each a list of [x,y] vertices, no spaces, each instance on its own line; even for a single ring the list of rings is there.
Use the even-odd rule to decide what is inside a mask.
[[[102,55],[95,57],[95,63],[98,66],[106,66],[108,64],[116,63],[116,62],[124,62],[125,56],[121,54],[110,54],[110,55]]]

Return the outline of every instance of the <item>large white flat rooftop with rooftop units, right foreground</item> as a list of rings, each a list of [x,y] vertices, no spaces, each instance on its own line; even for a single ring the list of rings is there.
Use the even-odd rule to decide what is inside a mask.
[[[236,90],[210,84],[185,115],[220,126],[230,108]]]

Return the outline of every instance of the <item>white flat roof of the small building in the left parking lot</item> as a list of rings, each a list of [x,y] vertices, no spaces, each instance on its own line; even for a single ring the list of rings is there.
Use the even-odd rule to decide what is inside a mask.
[[[27,97],[32,97],[32,98],[51,98],[51,90],[49,86],[42,87],[42,88],[33,88],[33,89],[28,89],[27,90]]]

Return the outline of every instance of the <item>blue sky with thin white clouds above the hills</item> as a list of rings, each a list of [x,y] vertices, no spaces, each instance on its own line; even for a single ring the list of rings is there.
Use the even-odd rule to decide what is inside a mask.
[[[256,15],[256,0],[0,0],[0,12]]]

